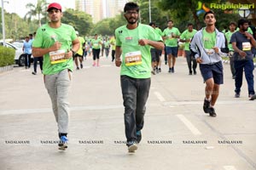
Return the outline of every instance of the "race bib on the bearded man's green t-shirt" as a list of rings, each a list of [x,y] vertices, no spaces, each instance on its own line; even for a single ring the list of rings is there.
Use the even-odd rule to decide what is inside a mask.
[[[125,65],[141,65],[143,63],[142,53],[140,51],[125,54]]]

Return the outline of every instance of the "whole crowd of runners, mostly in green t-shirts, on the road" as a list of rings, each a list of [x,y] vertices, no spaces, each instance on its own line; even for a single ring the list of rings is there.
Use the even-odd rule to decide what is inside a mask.
[[[94,37],[84,38],[79,36],[79,31],[75,31],[73,26],[61,23],[61,4],[50,3],[47,12],[50,22],[38,28],[34,36],[26,37],[23,50],[26,54],[26,68],[30,67],[28,61],[31,55],[34,57],[32,74],[37,74],[37,63],[40,62],[45,88],[52,101],[52,109],[58,124],[60,150],[67,149],[68,91],[71,86],[73,61],[76,70],[80,70],[84,67],[84,59],[92,55],[92,66],[98,67],[100,56],[105,52],[108,58],[110,49],[112,49],[112,62],[120,67],[125,107],[125,136],[129,152],[137,150],[137,144],[142,139],[150,77],[162,71],[162,54],[165,54],[168,72],[177,71],[175,65],[179,43],[184,43],[189,75],[196,75],[196,68],[199,65],[206,84],[202,109],[209,116],[217,116],[214,106],[220,85],[224,83],[223,56],[230,58],[230,71],[235,79],[235,97],[240,97],[244,71],[248,97],[251,100],[255,99],[253,82],[255,28],[252,29],[253,35],[247,31],[248,20],[231,21],[229,31],[218,31],[215,26],[217,22],[215,14],[210,10],[204,14],[203,20],[206,26],[201,30],[196,31],[193,24],[188,23],[186,30],[180,32],[174,27],[174,21],[168,20],[166,29],[161,31],[154,22],[149,23],[149,26],[138,23],[139,6],[137,3],[126,3],[124,17],[127,23],[117,28],[113,37],[99,37],[95,34]]]

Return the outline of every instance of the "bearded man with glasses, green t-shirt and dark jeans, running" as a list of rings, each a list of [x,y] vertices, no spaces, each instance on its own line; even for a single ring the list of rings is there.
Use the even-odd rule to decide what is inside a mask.
[[[116,60],[121,66],[120,81],[125,106],[125,136],[129,152],[137,150],[142,139],[144,114],[150,88],[150,46],[163,49],[162,38],[151,26],[139,24],[137,3],[125,4],[127,25],[115,30]],[[122,55],[122,59],[120,59]]]

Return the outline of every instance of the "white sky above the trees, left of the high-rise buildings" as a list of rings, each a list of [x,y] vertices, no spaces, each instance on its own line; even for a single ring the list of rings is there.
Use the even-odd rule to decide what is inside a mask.
[[[2,1],[2,0],[1,0]],[[26,4],[27,3],[34,3],[36,4],[38,0],[3,0],[4,3],[3,7],[8,13],[16,13],[19,14],[21,18],[25,16],[27,13]],[[65,10],[65,8],[74,8],[75,1],[74,0],[46,0],[47,3],[60,3],[61,7]],[[0,3],[2,8],[2,2]]]

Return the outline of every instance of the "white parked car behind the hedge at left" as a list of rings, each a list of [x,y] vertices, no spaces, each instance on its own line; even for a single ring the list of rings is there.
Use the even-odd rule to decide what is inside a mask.
[[[5,42],[5,43],[6,43],[6,45],[5,45],[6,47],[15,49],[15,64],[19,65],[19,66],[24,66],[25,65],[25,56],[22,51],[23,43],[21,42],[22,44],[20,44],[19,47],[17,47],[15,44],[12,44],[9,42]],[[0,45],[3,46],[3,41],[0,41]],[[33,58],[31,60],[31,62],[32,61],[33,61]]]

